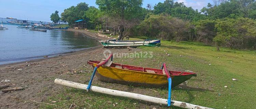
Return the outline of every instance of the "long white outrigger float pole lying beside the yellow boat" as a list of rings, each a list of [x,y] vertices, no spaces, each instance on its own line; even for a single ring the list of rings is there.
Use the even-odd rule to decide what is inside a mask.
[[[61,80],[61,79],[57,79],[57,78],[55,79],[54,83],[59,84],[59,85],[64,85],[67,87],[71,87],[71,88],[83,89],[83,90],[86,90],[86,88],[88,86],[86,84],[80,84],[80,83]],[[157,97],[152,97],[152,96],[147,96],[147,95],[142,95],[142,94],[117,91],[117,90],[112,90],[112,89],[96,87],[96,86],[91,86],[90,91],[114,95],[114,96],[128,97],[128,98],[133,98],[133,99],[144,100],[147,102],[167,105],[167,99],[157,98]],[[212,108],[202,107],[202,106],[193,105],[193,104],[189,104],[189,103],[185,103],[185,102],[179,102],[179,101],[175,101],[175,100],[171,100],[171,103],[172,103],[171,104],[172,106],[181,107],[181,108],[185,108],[185,109],[212,109]]]

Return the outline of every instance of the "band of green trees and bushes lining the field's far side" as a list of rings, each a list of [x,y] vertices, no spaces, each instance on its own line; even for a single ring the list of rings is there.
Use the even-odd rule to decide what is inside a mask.
[[[142,7],[142,0],[96,0],[99,8],[79,3],[61,13],[72,25],[84,19],[89,29],[161,40],[197,41],[234,49],[256,49],[255,0],[213,0],[201,10],[165,0]]]

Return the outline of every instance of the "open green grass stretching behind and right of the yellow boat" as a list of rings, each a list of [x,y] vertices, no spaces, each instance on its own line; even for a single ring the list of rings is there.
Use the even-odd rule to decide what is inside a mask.
[[[160,48],[141,47],[143,51],[154,52],[151,61],[155,62],[143,64],[148,59],[139,59],[130,64],[156,67],[166,62],[174,70],[196,72],[198,76],[188,80],[189,88],[174,89],[172,99],[218,109],[253,109],[256,106],[255,51],[229,48],[216,51],[216,47],[195,42],[162,41],[161,44]],[[166,56],[163,50],[172,55]]]

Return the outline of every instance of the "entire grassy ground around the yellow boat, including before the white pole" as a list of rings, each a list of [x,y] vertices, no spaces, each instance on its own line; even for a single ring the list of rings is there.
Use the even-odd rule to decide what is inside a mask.
[[[131,40],[138,40],[131,38]],[[153,58],[115,58],[116,63],[138,65],[143,67],[160,68],[166,62],[170,70],[193,71],[197,77],[192,77],[187,84],[175,87],[172,90],[172,99],[204,107],[216,109],[255,109],[256,107],[256,51],[234,50],[221,48],[216,51],[215,47],[207,46],[196,42],[172,42],[161,41],[161,47],[139,47],[141,51],[153,51]],[[166,52],[171,54],[166,55]],[[92,69],[84,69],[90,70]],[[85,80],[91,73],[80,74],[81,80]],[[238,81],[233,81],[232,78]],[[89,80],[88,80],[89,81]],[[84,83],[88,83],[85,81]],[[102,86],[98,81],[93,85]],[[104,86],[115,84],[105,83]],[[224,88],[227,86],[227,88]],[[146,91],[152,88],[133,87],[128,88]],[[118,88],[116,88],[118,90]],[[168,89],[156,89],[158,92],[141,92],[150,96],[167,98]],[[139,91],[139,92],[140,92]],[[73,97],[68,100],[68,97]],[[83,90],[65,88],[59,94],[48,98],[48,103],[52,100],[60,102],[52,103],[59,107],[42,105],[42,108],[69,108],[71,103],[75,103],[82,108],[117,108],[133,109],[153,107],[165,109],[166,106],[148,104],[138,100],[123,97],[114,97],[94,92],[86,93]],[[108,103],[111,101],[113,103]],[[86,102],[86,103],[85,103]],[[88,104],[91,106],[89,106]],[[116,104],[115,106],[113,104]],[[173,109],[179,109],[172,107]]]

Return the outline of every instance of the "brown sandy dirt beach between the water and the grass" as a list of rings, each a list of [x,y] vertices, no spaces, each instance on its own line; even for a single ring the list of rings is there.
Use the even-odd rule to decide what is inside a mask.
[[[102,37],[96,37],[95,33],[85,30],[69,29],[69,31],[82,32],[98,40],[105,40]],[[120,49],[113,49],[112,51],[115,50]],[[81,68],[87,65],[88,60],[101,60],[104,57],[103,51],[104,49],[101,46],[97,46],[58,57],[0,65],[0,85],[24,88],[22,91],[7,93],[0,91],[0,108],[37,108],[38,106],[34,105],[31,100],[42,102],[51,93],[60,89],[59,85],[54,84],[55,78],[76,81],[77,75],[69,75],[69,73],[80,72]],[[2,81],[5,79],[10,81]]]

